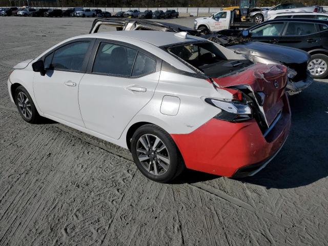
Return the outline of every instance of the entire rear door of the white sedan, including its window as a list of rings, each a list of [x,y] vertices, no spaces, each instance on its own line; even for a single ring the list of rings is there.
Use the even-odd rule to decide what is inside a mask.
[[[118,139],[152,98],[161,61],[135,46],[98,40],[79,85],[79,106],[87,129]]]

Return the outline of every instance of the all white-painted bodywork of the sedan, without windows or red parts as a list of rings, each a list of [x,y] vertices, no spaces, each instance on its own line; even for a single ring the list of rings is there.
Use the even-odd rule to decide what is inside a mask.
[[[45,76],[32,70],[34,61],[40,59],[61,44],[79,38],[100,38],[133,44],[165,61],[175,69],[195,73],[189,66],[159,46],[207,41],[195,36],[187,39],[171,32],[161,31],[118,31],[95,33],[69,38],[48,49],[32,61],[25,61],[10,75],[11,85],[20,84],[26,88],[40,115],[69,127],[128,148],[127,132],[138,122],[150,122],[170,134],[187,134],[221,112],[219,108],[204,102],[204,97],[230,98],[226,90],[214,88],[204,78],[187,76],[166,70],[157,71],[139,78],[123,78],[109,75],[48,71]],[[215,44],[229,59],[245,59],[233,51]],[[34,81],[33,81],[34,80]],[[65,83],[69,83],[69,85]],[[72,86],[75,83],[75,86]],[[127,90],[129,86],[147,88],[146,92]],[[174,97],[173,110],[163,106],[163,98]],[[177,103],[179,101],[179,103]],[[164,100],[164,103],[172,101]],[[177,106],[177,104],[179,104]],[[197,117],[195,117],[197,116]]]

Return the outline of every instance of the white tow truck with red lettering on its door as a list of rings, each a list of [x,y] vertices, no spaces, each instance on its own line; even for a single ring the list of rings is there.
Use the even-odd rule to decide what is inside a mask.
[[[236,12],[235,10],[222,10],[210,17],[196,18],[194,29],[209,34],[224,29],[246,29],[256,24],[254,22],[241,22],[240,16]]]

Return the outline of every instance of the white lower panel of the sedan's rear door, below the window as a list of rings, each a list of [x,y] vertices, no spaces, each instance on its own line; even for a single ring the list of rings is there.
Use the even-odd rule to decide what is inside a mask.
[[[152,98],[159,74],[158,71],[140,78],[85,74],[78,98],[86,128],[118,139],[133,116]],[[130,91],[131,86],[147,89]]]

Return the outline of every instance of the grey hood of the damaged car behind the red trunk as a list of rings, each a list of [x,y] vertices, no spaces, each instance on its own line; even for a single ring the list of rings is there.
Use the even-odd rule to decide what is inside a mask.
[[[240,45],[229,46],[227,48],[234,50],[236,53],[242,54],[250,60],[254,60],[252,59],[254,56],[259,56],[276,60],[283,64],[302,64],[307,62],[310,58],[310,55],[307,52],[299,49],[261,42],[248,42]]]

